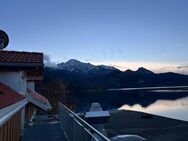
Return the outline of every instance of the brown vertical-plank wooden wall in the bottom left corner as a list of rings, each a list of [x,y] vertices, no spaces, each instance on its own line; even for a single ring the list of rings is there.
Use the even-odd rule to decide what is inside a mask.
[[[0,141],[20,141],[20,137],[21,112],[18,112],[0,127]]]

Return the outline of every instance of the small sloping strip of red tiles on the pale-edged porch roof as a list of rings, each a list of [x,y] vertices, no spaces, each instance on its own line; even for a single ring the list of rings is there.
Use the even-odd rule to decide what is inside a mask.
[[[47,98],[45,98],[44,96],[40,95],[39,93],[37,93],[35,91],[32,91],[31,89],[27,89],[27,93],[38,101],[41,101],[45,104],[49,103]]]

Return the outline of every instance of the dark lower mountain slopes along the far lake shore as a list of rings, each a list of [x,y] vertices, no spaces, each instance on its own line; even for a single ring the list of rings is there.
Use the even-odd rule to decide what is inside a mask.
[[[100,70],[100,71],[98,71]],[[108,89],[122,87],[149,87],[188,85],[188,76],[176,73],[155,74],[145,68],[137,71],[121,72],[117,69],[109,71],[100,66],[94,67],[87,73],[61,69],[44,69],[44,81],[63,81],[70,90]]]

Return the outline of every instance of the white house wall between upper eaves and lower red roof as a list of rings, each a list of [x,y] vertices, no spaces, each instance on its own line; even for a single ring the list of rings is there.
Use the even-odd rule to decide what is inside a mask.
[[[22,95],[26,95],[27,77],[25,72],[0,72],[0,82]]]

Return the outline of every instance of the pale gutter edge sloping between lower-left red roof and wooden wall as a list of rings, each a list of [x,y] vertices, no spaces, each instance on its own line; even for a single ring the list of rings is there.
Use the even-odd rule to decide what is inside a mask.
[[[12,116],[14,116],[18,111],[20,111],[27,104],[27,99],[24,99],[23,101],[20,101],[20,102],[21,103],[19,105],[17,105],[16,103],[15,106],[7,110],[6,114],[0,117],[0,127],[3,126]]]

